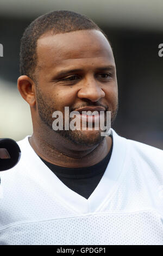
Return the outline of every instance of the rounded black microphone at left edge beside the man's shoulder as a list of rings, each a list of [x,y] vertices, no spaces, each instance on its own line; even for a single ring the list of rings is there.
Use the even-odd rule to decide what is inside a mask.
[[[21,150],[14,139],[0,139],[0,171],[14,167],[21,157]]]

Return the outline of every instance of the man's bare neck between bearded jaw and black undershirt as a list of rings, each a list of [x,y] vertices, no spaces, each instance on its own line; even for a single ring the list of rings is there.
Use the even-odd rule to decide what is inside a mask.
[[[93,147],[76,145],[56,133],[49,136],[45,131],[33,133],[29,143],[35,153],[42,159],[62,167],[77,168],[92,166],[109,153],[111,137],[105,137],[101,143]],[[46,136],[47,135],[47,136]]]

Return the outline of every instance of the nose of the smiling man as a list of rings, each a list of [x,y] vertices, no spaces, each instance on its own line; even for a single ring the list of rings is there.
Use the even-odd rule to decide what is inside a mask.
[[[82,88],[78,91],[78,97],[80,99],[89,99],[91,101],[98,101],[105,96],[101,85],[95,78],[87,79],[83,82]]]

